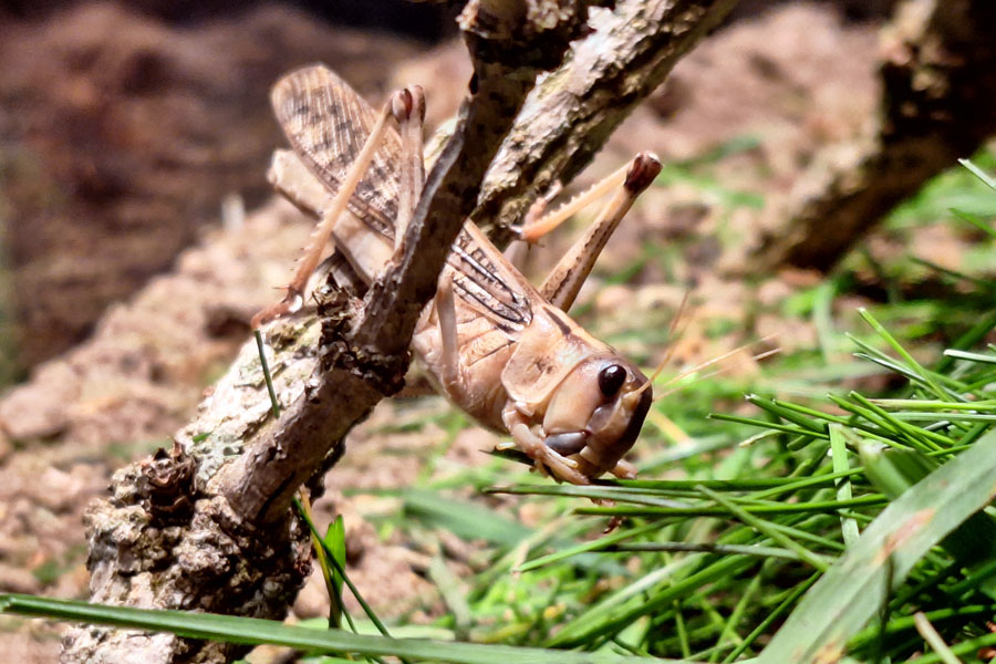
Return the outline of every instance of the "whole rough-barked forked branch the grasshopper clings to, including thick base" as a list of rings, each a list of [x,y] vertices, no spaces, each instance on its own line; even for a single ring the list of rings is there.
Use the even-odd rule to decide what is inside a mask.
[[[563,77],[547,77],[547,94],[530,96],[521,113],[536,73],[561,62],[570,40],[587,32],[587,6],[537,0],[526,3],[523,15],[506,11],[515,3],[468,4],[460,27],[474,59],[475,94],[427,178],[403,256],[362,301],[329,286],[319,293],[318,318],[268,329],[283,407],[279,419],[270,415],[256,346],[247,344],[196,421],[176,435],[172,453],[115,475],[113,498],[89,519],[94,601],[284,614],[309,569],[307,532],[291,515],[290,500],[342,452],[345,433],[400,387],[416,318],[475,201],[498,205],[502,196],[523,197],[538,173],[548,183],[577,173],[732,1],[651,2],[653,20],[634,20],[639,4],[621,2],[616,13],[603,13],[599,32],[588,38],[596,43],[585,49],[588,40],[580,42],[560,70]],[[618,34],[626,37],[609,39]],[[625,72],[630,65],[632,74]],[[592,83],[600,76],[609,83]],[[564,81],[582,79],[589,94],[561,96]],[[554,108],[544,106],[553,97],[560,98]],[[559,114],[557,126],[537,121],[543,107]],[[479,197],[502,139],[506,160],[491,173],[505,175],[489,180]],[[510,154],[520,158],[508,162]],[[68,635],[63,661],[215,662],[237,652],[170,635],[83,626]]]

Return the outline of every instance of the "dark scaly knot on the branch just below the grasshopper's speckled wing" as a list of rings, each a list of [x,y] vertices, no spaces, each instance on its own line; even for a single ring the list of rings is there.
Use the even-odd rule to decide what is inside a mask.
[[[322,320],[320,360],[324,371],[349,371],[384,396],[405,385],[409,353],[382,353],[355,341],[355,321],[363,321],[362,304],[340,289],[315,293]]]

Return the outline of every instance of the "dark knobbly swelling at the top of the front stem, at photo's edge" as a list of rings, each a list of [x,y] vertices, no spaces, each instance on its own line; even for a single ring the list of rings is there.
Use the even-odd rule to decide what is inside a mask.
[[[475,60],[550,70],[568,44],[588,35],[588,8],[614,0],[471,0],[457,19]]]

